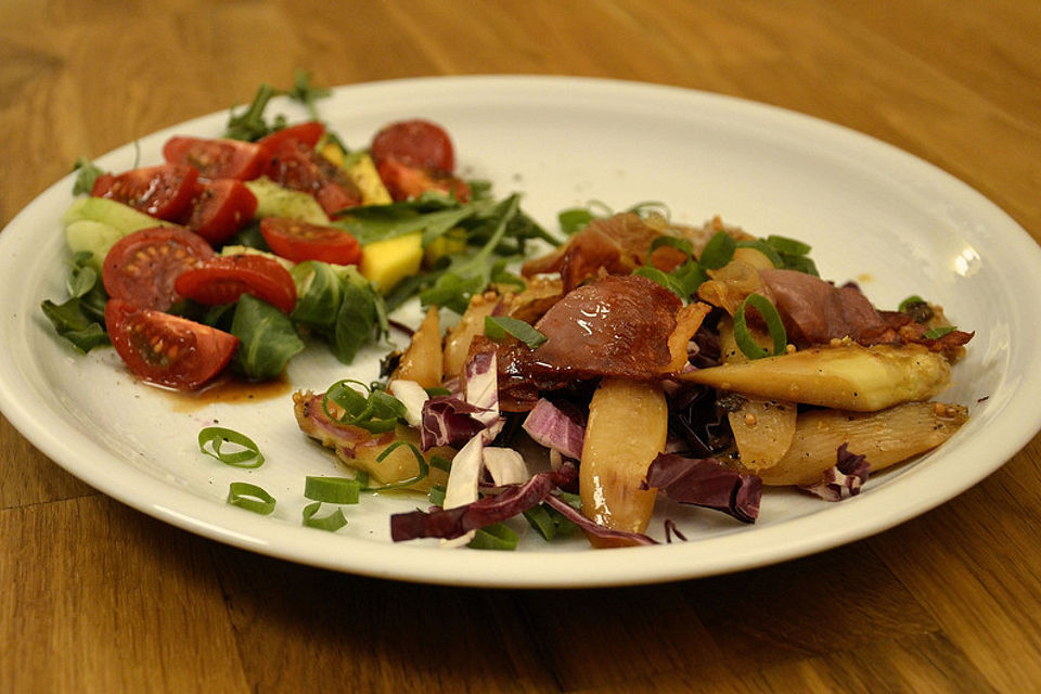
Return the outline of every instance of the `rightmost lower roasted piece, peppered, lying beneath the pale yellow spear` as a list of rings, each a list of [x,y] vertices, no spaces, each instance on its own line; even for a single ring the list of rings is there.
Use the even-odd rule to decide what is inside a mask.
[[[812,485],[835,464],[835,451],[843,444],[851,453],[865,455],[875,473],[936,448],[966,421],[964,407],[941,402],[908,402],[869,414],[805,412],[788,452],[758,474],[766,485]]]

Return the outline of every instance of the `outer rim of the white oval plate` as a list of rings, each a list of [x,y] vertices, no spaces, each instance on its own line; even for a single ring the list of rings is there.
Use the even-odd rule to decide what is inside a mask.
[[[1024,262],[1032,265],[1034,270],[1041,271],[1041,249],[1039,249],[1037,243],[1029,235],[1029,233],[1007,213],[1002,210],[993,202],[988,200],[964,181],[958,179],[928,160],[914,156],[882,140],[877,140],[871,136],[852,130],[839,124],[822,120],[813,116],[785,110],[780,106],[748,101],[736,97],[716,94],[667,85],[605,78],[535,75],[401,78],[339,86],[334,88],[334,94],[359,92],[371,89],[411,91],[417,87],[422,87],[423,89],[435,88],[450,91],[453,87],[460,88],[462,86],[466,86],[467,89],[474,89],[475,86],[479,86],[484,89],[503,88],[513,90],[517,88],[517,85],[525,85],[528,88],[532,86],[552,86],[554,89],[568,90],[594,89],[622,92],[632,91],[633,93],[640,93],[642,95],[653,94],[656,98],[660,98],[666,101],[674,99],[694,99],[695,101],[701,100],[703,103],[714,103],[724,106],[728,111],[735,110],[741,113],[748,112],[755,114],[757,117],[767,119],[780,118],[786,124],[795,123],[799,127],[809,127],[814,130],[820,129],[823,132],[830,133],[828,137],[839,139],[853,138],[859,146],[868,147],[873,152],[877,151],[878,156],[883,158],[896,157],[904,166],[918,168],[923,166],[927,167],[926,169],[922,170],[928,171],[930,177],[936,177],[936,180],[939,181],[940,185],[959,189],[962,195],[967,196],[966,200],[972,202],[974,210],[990,215],[993,219],[1001,221],[1003,230],[1002,233],[1011,233],[1012,237],[1017,240],[1016,245],[1018,246],[1018,250],[1021,253]],[[150,133],[149,136],[144,136],[142,139],[158,140],[167,137],[168,133],[174,130],[184,131],[185,129],[197,127],[197,124],[200,123],[206,123],[226,114],[227,112],[214,112],[183,121],[181,124],[170,126],[168,128],[160,129],[156,132]],[[120,147],[117,147],[102,155],[101,157],[98,157],[98,160],[103,162],[105,159],[116,158],[120,156],[120,152],[126,151],[127,147],[130,146],[132,146],[132,143],[121,145]],[[36,196],[28,205],[26,205],[26,207],[20,210],[18,214],[11,219],[11,221],[4,228],[4,232],[12,228],[20,228],[20,226],[24,223],[23,219],[31,214],[40,201],[46,200],[48,196],[55,196],[56,192],[61,191],[62,189],[67,191],[67,187],[70,185],[72,177],[73,175],[64,177]],[[4,252],[8,250],[9,246],[14,243],[11,241],[12,237],[12,234],[0,233],[0,258],[4,257]],[[2,260],[0,260],[0,262],[2,262]],[[1001,441],[1000,450],[1002,452],[999,455],[993,457],[995,459],[993,464],[980,466],[969,472],[963,471],[961,477],[959,477],[959,484],[949,485],[943,488],[942,491],[934,488],[931,490],[931,494],[927,493],[925,497],[918,498],[914,505],[905,505],[902,509],[890,511],[886,515],[884,522],[868,524],[870,527],[863,527],[863,523],[853,523],[852,526],[844,527],[843,523],[850,520],[850,518],[847,516],[851,516],[852,519],[856,520],[857,516],[861,515],[858,512],[863,505],[875,505],[874,502],[871,501],[872,494],[863,494],[861,497],[845,501],[841,504],[831,509],[827,513],[831,514],[830,518],[833,518],[835,523],[832,523],[831,527],[827,528],[826,531],[811,534],[807,537],[800,538],[796,542],[788,542],[784,548],[784,551],[780,553],[776,552],[774,548],[770,547],[772,536],[779,534],[781,529],[786,529],[792,524],[806,523],[807,516],[788,519],[772,526],[760,526],[755,528],[753,531],[744,534],[728,534],[699,539],[695,544],[701,548],[706,548],[707,545],[707,549],[711,550],[711,545],[725,542],[728,545],[736,545],[738,550],[744,553],[742,554],[740,561],[734,561],[732,557],[721,557],[718,552],[709,552],[716,557],[716,560],[712,562],[703,562],[695,570],[691,570],[690,566],[685,565],[685,563],[681,561],[680,555],[685,555],[686,552],[677,552],[677,548],[671,545],[631,548],[617,550],[615,552],[581,550],[577,552],[553,553],[496,553],[496,556],[492,561],[492,557],[489,557],[488,553],[485,552],[446,552],[429,547],[416,547],[414,544],[384,545],[365,540],[355,540],[351,538],[340,537],[340,541],[345,541],[347,543],[357,542],[363,545],[367,557],[365,561],[359,564],[357,561],[344,561],[342,555],[332,557],[311,555],[294,556],[292,555],[293,553],[286,553],[285,548],[293,545],[294,538],[301,530],[300,528],[292,528],[288,526],[283,527],[281,524],[270,524],[270,528],[268,529],[269,531],[266,531],[264,537],[260,537],[253,531],[254,526],[256,526],[257,518],[250,517],[247,514],[243,514],[240,510],[230,506],[221,507],[219,505],[215,505],[211,502],[188,491],[176,488],[170,489],[167,493],[171,496],[167,498],[167,503],[146,503],[134,497],[132,493],[128,493],[129,486],[132,486],[129,485],[131,480],[136,483],[141,481],[141,478],[151,483],[155,483],[157,480],[143,471],[131,467],[126,471],[127,476],[124,480],[126,484],[113,485],[111,479],[106,478],[102,474],[102,471],[98,467],[91,466],[90,464],[85,465],[78,463],[76,459],[76,451],[73,450],[73,447],[70,447],[66,441],[55,440],[54,437],[47,432],[46,427],[41,426],[41,424],[33,417],[31,409],[27,407],[25,402],[21,402],[18,400],[16,389],[12,385],[13,382],[11,381],[9,367],[10,364],[5,363],[5,358],[0,358],[0,412],[3,412],[4,416],[8,417],[12,425],[18,429],[22,435],[33,444],[33,446],[43,452],[50,460],[54,461],[61,467],[65,468],[67,472],[80,478],[88,485],[98,488],[106,496],[116,499],[121,503],[130,505],[131,507],[152,515],[153,517],[156,517],[165,523],[192,531],[196,535],[287,561],[295,561],[323,568],[381,578],[472,587],[583,588],[653,583],[744,570],[757,566],[779,563],[782,561],[791,561],[799,556],[805,556],[807,554],[819,552],[825,549],[835,548],[840,544],[882,532],[912,517],[921,515],[950,499],[953,499],[969,487],[978,484],[995,470],[1000,468],[1005,462],[1007,462],[1008,459],[1021,450],[1021,448],[1033,438],[1038,429],[1041,428],[1041,413],[1038,413],[1034,415],[1029,425],[1017,427],[1015,432],[1016,436],[1005,437]],[[1028,375],[1031,376],[1031,381],[1034,385],[1041,384],[1041,376],[1038,374]],[[1021,393],[1021,388],[1014,391],[1013,396],[1015,396],[1017,393]],[[1008,402],[1003,404],[1003,408],[1007,409],[1013,407],[1017,399],[1013,397]],[[963,450],[967,450],[969,452],[974,451],[976,448],[979,448],[978,445],[974,446],[972,441],[968,441],[967,444],[963,441],[963,445],[968,446],[967,449]],[[998,458],[1001,460],[997,460]],[[909,474],[913,475],[915,471],[909,470],[908,472]],[[894,500],[896,501],[899,500],[902,494],[894,492],[894,489],[897,489],[897,486],[888,486],[886,488],[879,488],[872,491],[876,497],[885,496],[887,499],[889,497],[894,497]],[[953,493],[951,492],[952,489],[954,490]],[[210,519],[207,520],[207,518]],[[216,524],[213,522],[214,519],[216,519]],[[852,527],[852,530],[850,530],[850,527]],[[304,531],[307,530],[304,529]],[[755,536],[755,538],[748,539],[749,536]],[[763,549],[763,545],[766,545],[767,549]],[[666,547],[669,549],[666,550]],[[397,563],[397,556],[402,552],[420,553],[416,555],[419,557],[417,562],[424,565],[424,569],[421,571],[415,571],[414,565],[416,562],[407,562],[409,566],[404,568],[394,566]],[[647,561],[619,562],[615,556],[616,552],[644,552]],[[669,554],[669,552],[671,552],[671,554]],[[738,554],[741,552],[738,552]],[[391,558],[389,562],[387,562],[385,558],[385,555],[388,553],[394,554],[394,558]],[[517,571],[528,567],[528,565],[531,563],[529,557],[532,555],[539,557],[551,556],[554,558],[554,561],[563,562],[565,566],[580,562],[582,565],[584,565],[586,570],[581,571],[577,576],[568,576],[565,573],[544,573],[542,575],[534,576],[529,574],[518,580]],[[410,556],[410,558],[412,557]],[[655,563],[656,570],[648,573],[643,568],[643,566],[652,562]],[[625,568],[619,570],[617,568],[618,564],[621,564]],[[628,566],[626,566],[627,564]],[[595,575],[593,575],[597,570],[606,570],[606,574],[597,578]]]

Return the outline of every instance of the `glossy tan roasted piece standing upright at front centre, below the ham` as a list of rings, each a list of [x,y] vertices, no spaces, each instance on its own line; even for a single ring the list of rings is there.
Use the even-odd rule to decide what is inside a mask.
[[[654,512],[653,489],[640,489],[651,461],[665,450],[668,406],[661,387],[604,378],[589,404],[579,465],[582,513],[618,530],[642,532]],[[602,540],[590,536],[600,547]]]

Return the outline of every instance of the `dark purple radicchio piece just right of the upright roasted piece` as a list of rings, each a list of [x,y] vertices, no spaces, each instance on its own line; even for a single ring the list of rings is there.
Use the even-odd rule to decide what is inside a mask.
[[[757,475],[743,475],[715,458],[676,453],[659,453],[640,488],[657,488],[673,501],[722,511],[742,523],[756,522],[762,499],[762,479]]]

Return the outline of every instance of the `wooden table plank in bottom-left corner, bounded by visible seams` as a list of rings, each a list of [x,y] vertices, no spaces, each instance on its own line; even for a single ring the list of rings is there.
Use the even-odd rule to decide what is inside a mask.
[[[0,690],[246,692],[207,544],[102,496],[0,511]]]

